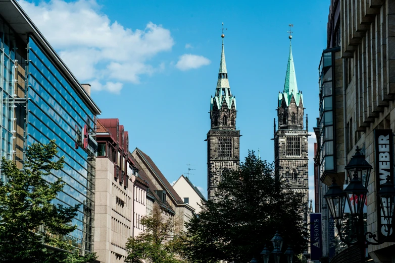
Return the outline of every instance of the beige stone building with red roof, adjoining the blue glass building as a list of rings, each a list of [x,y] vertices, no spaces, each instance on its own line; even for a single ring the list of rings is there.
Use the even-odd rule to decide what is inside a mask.
[[[133,202],[137,198],[133,195],[128,134],[118,119],[97,120],[96,131],[94,251],[100,262],[124,262],[125,244],[132,235]],[[138,193],[139,202],[143,202],[142,191]]]

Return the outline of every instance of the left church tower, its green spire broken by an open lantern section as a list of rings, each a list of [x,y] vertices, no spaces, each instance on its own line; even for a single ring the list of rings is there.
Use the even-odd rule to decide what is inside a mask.
[[[238,169],[240,162],[240,130],[236,130],[236,98],[232,95],[226,70],[224,37],[217,88],[211,96],[211,128],[207,134],[207,186],[208,199],[214,199],[215,191],[226,169]]]

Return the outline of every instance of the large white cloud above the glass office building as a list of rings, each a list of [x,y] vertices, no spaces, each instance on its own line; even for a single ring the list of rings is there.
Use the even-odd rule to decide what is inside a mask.
[[[138,84],[141,76],[164,68],[147,60],[174,45],[170,31],[161,25],[149,22],[133,30],[110,21],[96,0],[19,4],[77,79],[98,85],[92,90],[119,93],[123,83]]]

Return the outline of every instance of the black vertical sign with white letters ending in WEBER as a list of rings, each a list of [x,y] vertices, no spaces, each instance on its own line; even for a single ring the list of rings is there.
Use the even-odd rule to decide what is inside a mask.
[[[393,135],[390,129],[375,129],[374,130],[374,151],[375,151],[375,175],[376,175],[376,194],[381,189],[381,185],[386,182],[387,176],[393,183]],[[377,214],[377,236],[382,239],[387,235],[388,241],[394,241],[393,231],[388,233],[388,228],[383,211],[381,209],[380,200],[376,200],[376,214]],[[391,222],[390,222],[391,223]]]

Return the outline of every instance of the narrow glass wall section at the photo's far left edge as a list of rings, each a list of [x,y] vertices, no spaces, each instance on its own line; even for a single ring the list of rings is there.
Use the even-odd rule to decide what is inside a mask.
[[[14,33],[0,18],[0,148],[9,160],[13,159],[15,50]],[[0,179],[6,178],[0,175]]]

